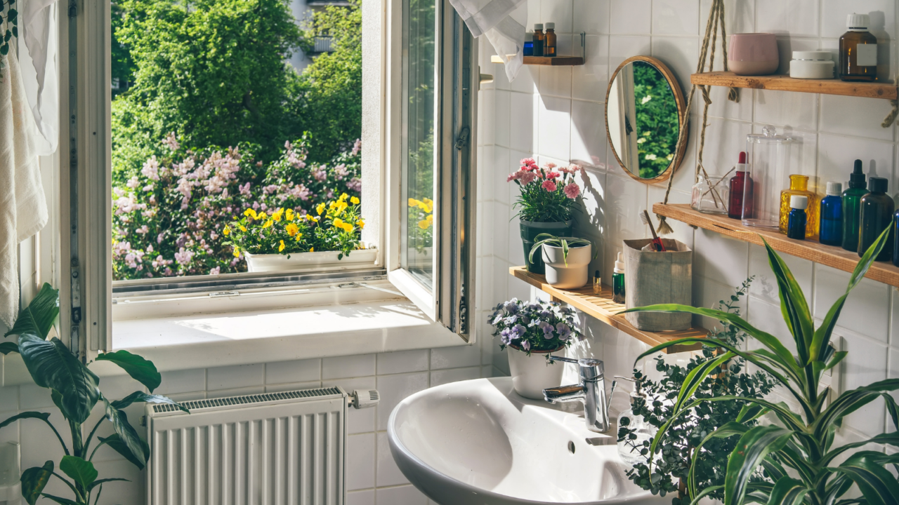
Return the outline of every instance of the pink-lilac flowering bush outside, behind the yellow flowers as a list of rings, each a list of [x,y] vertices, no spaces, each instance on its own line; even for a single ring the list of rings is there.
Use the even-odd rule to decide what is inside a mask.
[[[343,193],[360,196],[360,140],[328,164],[307,164],[305,137],[285,143],[271,164],[257,161],[256,150],[194,151],[172,134],[139,173],[114,184],[114,279],[246,271],[243,255],[222,244],[225,227],[246,208],[305,216]]]

